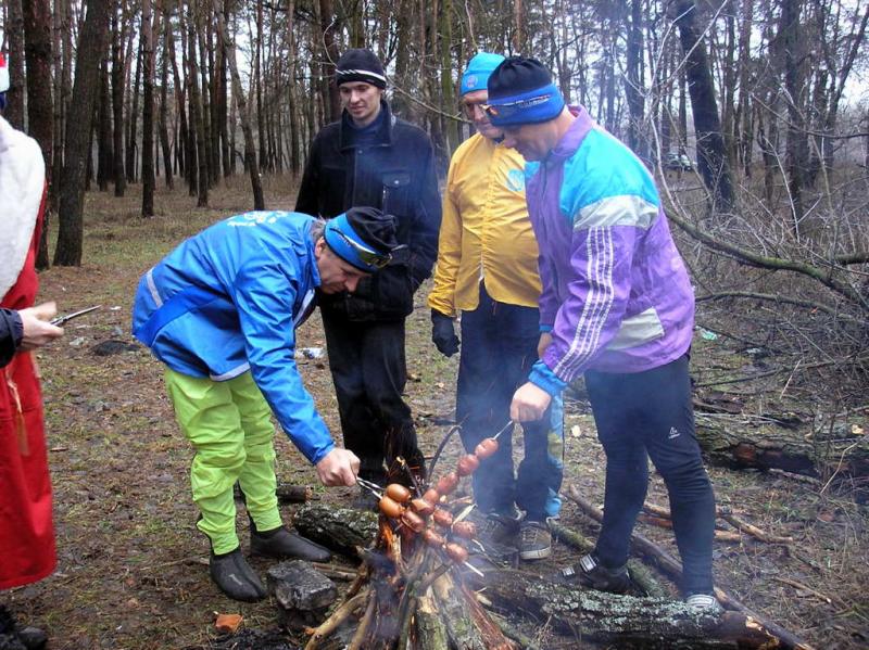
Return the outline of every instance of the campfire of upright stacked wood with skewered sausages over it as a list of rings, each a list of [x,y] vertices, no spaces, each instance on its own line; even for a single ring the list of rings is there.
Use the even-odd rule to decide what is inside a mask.
[[[454,432],[438,448],[432,473]],[[476,524],[467,521],[474,504],[453,498],[459,483],[498,451],[502,432],[462,456],[455,470],[433,485],[420,485],[402,459],[398,462],[412,487],[361,481],[379,499],[377,541],[374,550],[363,553],[363,569],[344,602],[313,630],[307,650],[323,647],[351,619],[355,623],[351,649],[446,648],[451,642],[468,647],[471,638],[470,647],[516,647],[464,583],[468,572],[483,577],[468,561],[469,546],[482,550],[482,545],[476,539]]]

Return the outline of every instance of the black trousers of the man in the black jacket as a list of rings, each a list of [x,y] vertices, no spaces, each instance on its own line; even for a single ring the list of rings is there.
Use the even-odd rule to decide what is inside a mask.
[[[360,457],[360,475],[382,482],[386,460],[391,476],[406,480],[394,467],[396,456],[425,471],[411,407],[402,398],[404,319],[360,322],[324,311],[323,326],[344,446]]]

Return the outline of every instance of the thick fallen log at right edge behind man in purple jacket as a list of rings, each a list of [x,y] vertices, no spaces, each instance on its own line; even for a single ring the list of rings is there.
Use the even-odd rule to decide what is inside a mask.
[[[832,433],[832,435],[830,435]],[[869,474],[869,436],[818,433],[808,439],[788,429],[739,429],[697,415],[697,441],[714,463],[738,468],[778,469],[809,476]]]

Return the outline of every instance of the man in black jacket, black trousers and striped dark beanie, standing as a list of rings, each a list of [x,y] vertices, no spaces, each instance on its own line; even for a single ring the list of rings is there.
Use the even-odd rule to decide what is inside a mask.
[[[386,460],[390,476],[406,482],[394,467],[396,456],[418,473],[425,470],[402,399],[404,320],[438,252],[434,155],[425,131],[391,114],[383,66],[370,50],[345,52],[336,84],[344,110],[311,144],[295,209],[329,219],[370,206],[396,217],[396,238],[405,247],[390,266],[352,294],[320,296],[319,305],[344,445],[360,457],[360,477],[383,485]]]

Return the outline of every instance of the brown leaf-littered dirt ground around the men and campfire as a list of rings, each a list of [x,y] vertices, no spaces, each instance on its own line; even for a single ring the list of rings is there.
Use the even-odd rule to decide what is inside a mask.
[[[291,207],[289,181],[268,182],[268,207]],[[212,193],[211,209],[193,208],[196,200],[184,189],[172,194],[161,190],[155,201],[159,215],[150,220],[138,218],[136,187],[122,200],[90,193],[84,265],[52,268],[41,276],[41,297],[56,299],[62,311],[102,305],[95,315],[73,321],[61,342],[39,354],[54,484],[58,570],[48,579],[2,595],[20,619],[49,632],[52,649],[207,648],[215,637],[218,612],[241,613],[249,627],[275,626],[274,604],[268,600],[234,602],[207,577],[207,544],[194,527],[197,512],[189,497],[191,451],[164,394],[161,365],[148,351],[131,345],[129,332],[130,302],[139,276],[184,237],[248,207],[243,179],[234,183]],[[452,418],[457,362],[444,359],[429,341],[425,294],[417,295],[418,308],[408,320],[406,392],[424,450],[432,454]],[[128,348],[97,354],[95,346],[110,340],[129,344]],[[319,321],[312,318],[299,332],[299,346],[324,345]],[[739,371],[751,359],[733,342],[698,335],[692,362],[693,377],[702,383],[722,368]],[[339,432],[327,361],[303,359],[300,366],[320,412]],[[752,395],[743,395],[738,412],[719,417],[739,428],[752,422],[753,413],[769,409],[769,404],[759,407]],[[858,428],[855,431],[869,425],[867,409],[864,406],[848,416],[848,424]],[[566,432],[565,485],[577,486],[600,504],[604,458],[581,391],[568,404]],[[286,436],[279,433],[276,441],[280,481],[312,485],[315,498],[349,504],[353,490],[318,487],[311,467]],[[455,446],[452,454],[457,451]],[[517,447],[521,454],[521,446]],[[731,506],[769,533],[794,539],[773,545],[743,535],[739,543],[718,543],[719,586],[815,648],[869,647],[865,588],[869,511],[855,500],[852,487],[828,477],[806,482],[783,473],[717,467],[709,472],[719,504]],[[657,476],[648,500],[667,505]],[[285,514],[289,520],[292,508]],[[245,519],[240,512],[242,531]],[[562,524],[590,537],[595,533],[594,525],[567,499]],[[668,531],[641,523],[638,532],[676,555]],[[245,547],[247,533],[241,537]],[[556,544],[551,560],[527,569],[549,575],[572,559],[575,551]],[[337,562],[352,565],[348,559]],[[268,562],[254,559],[253,565],[263,574]],[[541,648],[589,647],[552,635],[545,622],[532,629]],[[299,638],[288,640],[303,643]]]

